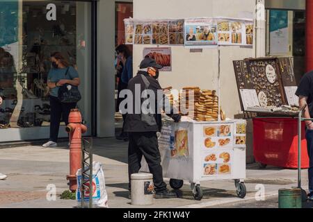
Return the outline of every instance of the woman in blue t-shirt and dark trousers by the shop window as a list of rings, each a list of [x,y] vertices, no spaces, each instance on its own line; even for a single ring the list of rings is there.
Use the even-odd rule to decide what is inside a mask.
[[[64,84],[79,86],[81,83],[76,69],[70,66],[60,52],[51,54],[51,65],[52,68],[49,71],[47,81],[50,88],[51,107],[50,139],[49,142],[42,145],[43,147],[58,146],[58,129],[60,128],[61,115],[67,125],[70,111],[76,108],[77,105],[77,103],[61,103],[58,100],[58,89]]]

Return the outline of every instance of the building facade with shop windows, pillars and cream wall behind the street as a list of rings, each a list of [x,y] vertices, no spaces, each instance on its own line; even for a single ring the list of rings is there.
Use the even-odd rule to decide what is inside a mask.
[[[49,137],[45,83],[51,52],[63,52],[79,71],[83,97],[79,108],[88,125],[87,135],[112,137],[115,133],[114,49],[123,42],[122,19],[255,19],[260,6],[264,8],[264,19],[255,22],[253,46],[220,47],[220,98],[230,118],[241,114],[232,60],[291,56],[298,80],[305,72],[305,64],[313,64],[305,62],[306,49],[310,48],[305,46],[308,29],[305,0],[1,1],[0,95],[4,103],[0,109],[0,142]],[[313,10],[312,3],[307,6]],[[170,47],[172,71],[161,73],[163,87],[181,89],[196,85],[217,89],[217,49],[192,53],[184,46]],[[133,54],[136,74],[143,58],[143,46],[134,45]],[[66,137],[64,126],[60,133]]]

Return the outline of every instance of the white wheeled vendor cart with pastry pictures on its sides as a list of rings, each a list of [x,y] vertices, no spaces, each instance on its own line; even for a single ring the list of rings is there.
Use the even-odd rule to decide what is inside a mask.
[[[166,120],[159,137],[163,176],[172,189],[191,183],[195,200],[200,183],[234,180],[239,198],[246,196],[246,121],[180,122]],[[143,162],[143,171],[147,164]]]

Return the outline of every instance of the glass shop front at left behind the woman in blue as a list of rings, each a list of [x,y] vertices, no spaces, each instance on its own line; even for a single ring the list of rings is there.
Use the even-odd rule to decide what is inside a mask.
[[[0,37],[0,96],[4,100],[0,142],[49,138],[47,76],[51,53],[56,51],[79,73],[82,99],[78,107],[89,129],[86,135],[90,135],[91,3],[16,1],[0,3],[0,8],[0,29],[6,30]],[[67,137],[64,125],[62,120],[59,137]]]

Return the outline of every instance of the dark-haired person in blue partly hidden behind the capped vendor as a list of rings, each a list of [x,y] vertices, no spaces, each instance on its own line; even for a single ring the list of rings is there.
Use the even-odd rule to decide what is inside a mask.
[[[127,89],[129,80],[133,78],[133,57],[131,56],[131,51],[125,44],[120,44],[115,49],[116,54],[118,55],[118,101],[117,101],[117,110],[120,111],[120,102],[122,99],[120,99],[120,92],[123,89]],[[128,135],[125,133],[125,118],[126,114],[122,115],[123,117],[123,126],[122,126],[122,133],[120,133],[119,136],[116,137],[116,139],[119,140],[128,140]]]

